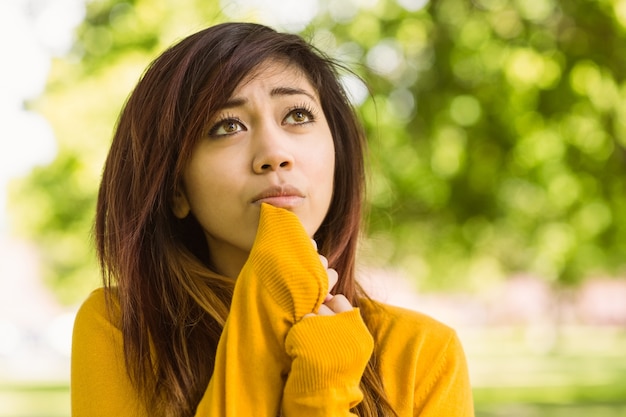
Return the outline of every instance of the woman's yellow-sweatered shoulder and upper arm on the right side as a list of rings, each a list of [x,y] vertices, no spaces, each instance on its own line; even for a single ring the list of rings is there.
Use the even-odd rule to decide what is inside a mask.
[[[369,300],[361,304],[385,390],[398,414],[417,415],[429,408],[440,410],[437,415],[470,415],[467,364],[456,331],[417,311]]]

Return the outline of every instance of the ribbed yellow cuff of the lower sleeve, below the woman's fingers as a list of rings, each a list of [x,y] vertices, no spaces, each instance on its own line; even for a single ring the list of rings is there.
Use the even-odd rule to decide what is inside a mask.
[[[307,317],[285,340],[292,367],[285,391],[358,387],[374,349],[374,340],[358,308],[333,316]]]

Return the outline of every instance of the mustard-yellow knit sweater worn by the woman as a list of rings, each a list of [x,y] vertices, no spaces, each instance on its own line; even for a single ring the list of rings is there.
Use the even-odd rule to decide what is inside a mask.
[[[474,415],[465,356],[452,329],[371,301],[361,311],[303,318],[318,310],[327,291],[324,268],[297,217],[263,205],[196,416],[352,416],[372,349],[398,416]],[[74,325],[73,417],[148,416],[128,379],[122,346],[104,290],[96,290]]]

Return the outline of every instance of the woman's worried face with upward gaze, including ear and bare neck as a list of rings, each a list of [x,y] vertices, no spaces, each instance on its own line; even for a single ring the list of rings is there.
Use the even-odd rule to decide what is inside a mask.
[[[335,148],[317,92],[295,65],[269,60],[235,89],[196,144],[174,196],[204,230],[217,272],[235,278],[266,202],[294,212],[310,236],[333,192]]]

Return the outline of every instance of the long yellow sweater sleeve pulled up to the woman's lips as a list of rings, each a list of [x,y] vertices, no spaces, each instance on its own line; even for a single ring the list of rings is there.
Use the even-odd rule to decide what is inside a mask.
[[[277,416],[291,366],[287,333],[327,292],[326,271],[298,218],[263,204],[196,415]]]

